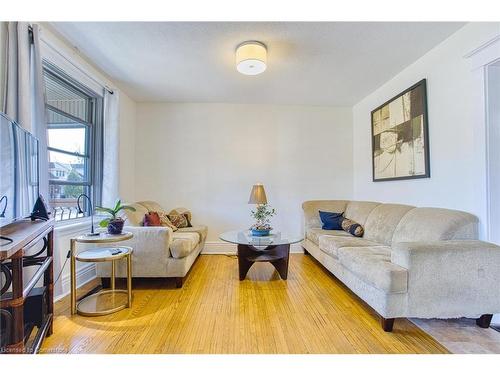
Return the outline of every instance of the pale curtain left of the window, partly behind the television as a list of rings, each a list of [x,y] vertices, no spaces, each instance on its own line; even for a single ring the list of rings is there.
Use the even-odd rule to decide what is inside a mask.
[[[9,22],[6,44],[7,69],[3,112],[38,138],[39,194],[48,199],[47,122],[38,25],[33,25],[30,36],[27,22]],[[27,183],[27,172],[22,168],[25,166],[18,167],[21,184]],[[33,207],[34,202],[26,197],[20,197],[20,201],[21,212],[26,212],[26,205]]]

